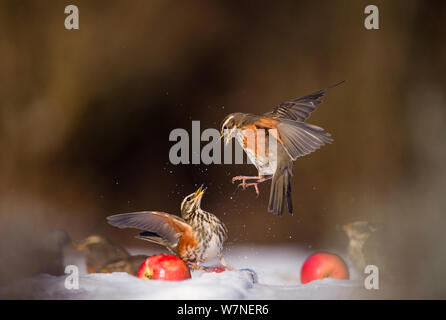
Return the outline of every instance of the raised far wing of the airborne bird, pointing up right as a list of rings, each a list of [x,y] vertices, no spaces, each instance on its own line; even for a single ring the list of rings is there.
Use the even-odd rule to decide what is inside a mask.
[[[310,114],[316,110],[316,106],[322,103],[321,98],[325,95],[328,89],[337,87],[343,84],[341,81],[335,85],[319,90],[312,94],[296,98],[290,101],[283,102],[276,106],[272,111],[265,115],[270,117],[290,119],[299,122],[305,122],[310,117]]]

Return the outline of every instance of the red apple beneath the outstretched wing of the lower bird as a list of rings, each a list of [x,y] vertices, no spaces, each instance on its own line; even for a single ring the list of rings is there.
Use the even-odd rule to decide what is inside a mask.
[[[181,281],[191,278],[186,262],[171,254],[148,257],[139,267],[136,276],[144,280],[164,281]]]

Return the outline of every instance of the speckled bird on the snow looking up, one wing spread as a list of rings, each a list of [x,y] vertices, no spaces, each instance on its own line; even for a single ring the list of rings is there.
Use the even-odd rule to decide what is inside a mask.
[[[199,264],[223,257],[223,243],[227,228],[215,215],[201,209],[205,189],[201,186],[181,203],[182,218],[158,211],[124,213],[107,217],[108,223],[118,228],[143,230],[138,239],[154,242],[187,262],[194,269],[204,270]]]

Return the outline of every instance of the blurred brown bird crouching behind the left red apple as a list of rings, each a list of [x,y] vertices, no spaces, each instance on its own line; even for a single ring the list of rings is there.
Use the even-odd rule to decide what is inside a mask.
[[[74,246],[79,251],[86,253],[88,273],[103,272],[101,270],[110,263],[126,260],[130,257],[130,254],[124,248],[112,244],[99,235],[88,236],[79,242],[75,242]]]

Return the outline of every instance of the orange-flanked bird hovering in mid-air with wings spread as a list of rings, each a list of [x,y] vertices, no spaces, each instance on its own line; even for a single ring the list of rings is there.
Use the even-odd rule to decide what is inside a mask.
[[[289,213],[293,213],[291,201],[293,161],[333,141],[331,135],[324,129],[307,124],[305,120],[322,102],[320,99],[327,90],[343,82],[281,103],[263,115],[232,113],[223,120],[221,134],[225,137],[226,143],[235,137],[259,172],[258,176],[234,177],[232,182],[241,180],[239,186],[243,189],[254,186],[259,195],[257,185],[272,179],[269,212],[282,215],[286,201]],[[252,143],[249,143],[250,141]],[[276,152],[271,152],[270,141],[275,142]],[[254,181],[247,183],[247,180]]]

